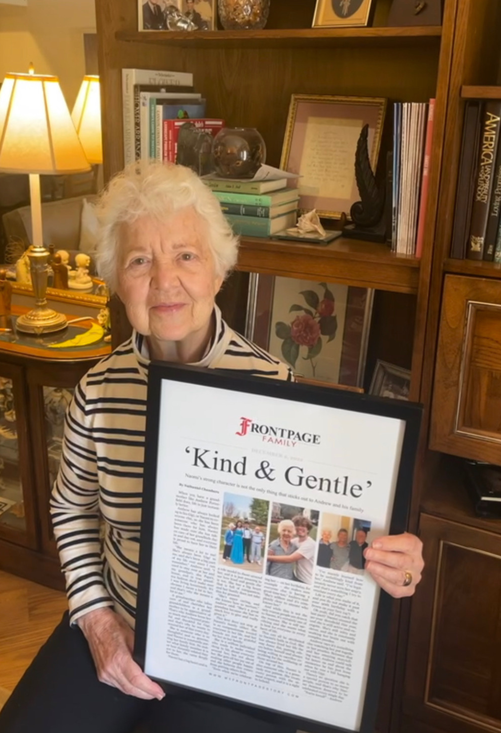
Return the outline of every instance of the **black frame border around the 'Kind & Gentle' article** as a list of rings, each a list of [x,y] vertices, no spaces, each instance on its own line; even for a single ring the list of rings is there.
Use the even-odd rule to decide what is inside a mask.
[[[389,417],[404,421],[404,438],[401,444],[400,462],[396,479],[393,509],[390,520],[390,534],[400,534],[407,529],[409,501],[412,490],[417,443],[420,434],[422,406],[413,402],[402,402],[393,399],[371,397],[366,394],[323,388],[319,386],[290,383],[286,381],[263,379],[238,375],[238,372],[219,371],[217,369],[200,369],[197,367],[179,367],[179,365],[152,362],[149,367],[149,383],[146,418],[146,451],[144,465],[144,493],[141,517],[141,553],[138,575],[138,601],[136,611],[136,633],[133,656],[141,668],[145,666],[146,641],[148,637],[149,597],[152,589],[152,553],[154,546],[153,526],[155,521],[155,495],[157,490],[157,460],[159,455],[158,435],[161,419],[161,393],[165,380],[174,380],[177,383],[203,386],[233,391],[234,393],[261,395],[284,399],[289,402],[320,405],[339,410],[349,410],[368,415]],[[393,599],[385,592],[379,593],[379,602],[376,612],[374,635],[370,651],[370,663],[365,685],[363,713],[357,733],[373,733],[376,721],[376,712],[379,703],[379,692],[385,664],[387,638],[390,630],[390,616]],[[146,672],[147,674],[147,672]],[[177,685],[172,680],[153,677],[166,689],[188,688],[188,685]],[[221,701],[230,701],[231,707],[245,712],[249,705],[234,697],[223,694],[215,696],[197,688],[188,688],[194,691],[196,699],[212,701],[215,698]],[[286,712],[267,710],[270,717],[276,721],[290,718],[298,729],[307,729],[310,733],[354,733],[355,729],[346,729],[330,726],[311,719],[298,718]]]

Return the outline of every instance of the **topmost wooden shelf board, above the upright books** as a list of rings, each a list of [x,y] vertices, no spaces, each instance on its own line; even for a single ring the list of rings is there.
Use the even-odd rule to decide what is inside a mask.
[[[422,45],[442,36],[442,26],[415,28],[294,28],[262,31],[118,31],[116,40],[186,48],[292,48],[335,45]]]

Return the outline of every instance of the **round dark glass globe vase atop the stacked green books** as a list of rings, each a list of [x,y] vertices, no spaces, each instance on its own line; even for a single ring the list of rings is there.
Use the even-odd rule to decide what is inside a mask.
[[[223,128],[212,143],[212,163],[223,178],[253,178],[266,161],[266,145],[256,128]]]

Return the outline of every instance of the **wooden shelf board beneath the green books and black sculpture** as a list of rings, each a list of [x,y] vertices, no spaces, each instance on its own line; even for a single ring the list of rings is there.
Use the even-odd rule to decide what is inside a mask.
[[[396,255],[385,244],[337,239],[327,246],[316,246],[242,237],[237,268],[415,294],[419,266],[419,259]]]

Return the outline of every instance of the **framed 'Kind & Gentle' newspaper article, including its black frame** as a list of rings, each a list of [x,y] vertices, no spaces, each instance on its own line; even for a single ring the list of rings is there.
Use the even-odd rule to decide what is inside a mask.
[[[373,733],[420,405],[151,364],[136,646],[149,677]]]

